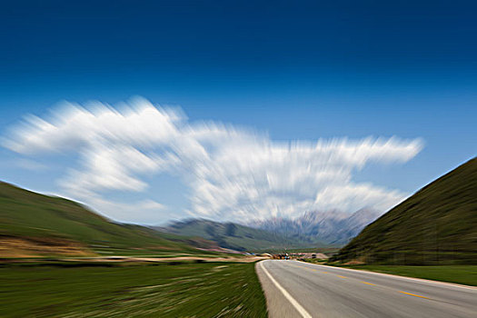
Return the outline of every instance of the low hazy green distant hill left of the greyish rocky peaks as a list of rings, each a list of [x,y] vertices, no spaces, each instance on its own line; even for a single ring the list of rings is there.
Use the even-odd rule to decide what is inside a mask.
[[[155,229],[171,234],[203,237],[218,243],[221,247],[236,251],[263,251],[267,249],[313,247],[319,244],[313,244],[284,234],[254,229],[241,224],[223,224],[204,219],[176,222],[167,227],[155,227]]]

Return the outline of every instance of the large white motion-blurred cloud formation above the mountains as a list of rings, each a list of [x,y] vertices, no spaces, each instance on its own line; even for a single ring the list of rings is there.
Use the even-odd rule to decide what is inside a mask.
[[[396,137],[279,143],[232,125],[191,123],[180,109],[141,98],[116,108],[65,104],[51,119],[28,117],[3,144],[30,156],[79,154],[59,184],[95,208],[108,209],[99,204],[106,191],[142,192],[144,175],[174,174],[191,189],[188,214],[243,222],[364,206],[384,212],[405,194],[357,184],[353,174],[373,162],[405,163],[422,149],[419,139]],[[149,203],[141,206],[151,210]]]

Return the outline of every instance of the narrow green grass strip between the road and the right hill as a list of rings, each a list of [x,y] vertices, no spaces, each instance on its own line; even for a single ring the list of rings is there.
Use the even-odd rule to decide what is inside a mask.
[[[339,267],[477,286],[477,265],[339,265]]]

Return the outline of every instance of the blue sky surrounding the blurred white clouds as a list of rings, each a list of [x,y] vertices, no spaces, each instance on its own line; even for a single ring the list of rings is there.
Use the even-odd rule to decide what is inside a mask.
[[[114,105],[143,96],[155,105],[181,107],[188,124],[231,124],[266,134],[272,143],[420,138],[422,149],[412,158],[370,161],[350,174],[353,184],[405,195],[475,155],[477,23],[472,14],[477,5],[471,1],[4,6],[4,136],[26,114],[44,119],[49,109],[57,114],[64,100]],[[19,154],[2,147],[0,155],[2,180],[95,205],[59,185],[81,165],[79,154]],[[38,163],[43,168],[32,169]],[[142,191],[101,190],[109,201],[163,204],[157,212],[134,216],[126,209],[116,215],[114,208],[93,207],[148,224],[204,216],[199,208],[194,212],[195,190],[184,178],[184,173],[156,171],[142,177],[149,185]],[[304,194],[288,193],[288,199],[293,195],[299,201]],[[288,201],[282,211],[285,206]],[[253,207],[258,208],[249,203],[245,210]],[[234,208],[241,210],[227,211]],[[211,217],[237,218],[224,211]]]

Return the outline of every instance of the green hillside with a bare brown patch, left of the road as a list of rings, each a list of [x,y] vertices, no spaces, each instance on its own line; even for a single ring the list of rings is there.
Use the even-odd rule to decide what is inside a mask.
[[[117,224],[74,201],[36,194],[3,182],[0,242],[0,257],[86,255],[99,250],[112,254],[125,250],[198,251],[184,238],[158,234],[144,226]]]

